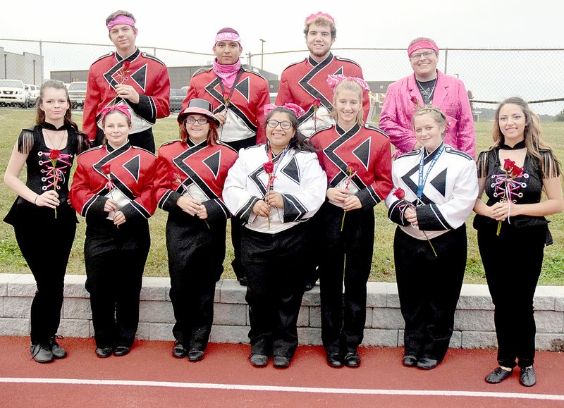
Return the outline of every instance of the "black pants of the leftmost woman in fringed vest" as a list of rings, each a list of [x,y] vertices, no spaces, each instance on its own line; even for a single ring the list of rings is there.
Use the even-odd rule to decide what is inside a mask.
[[[59,329],[75,231],[76,217],[71,208],[59,208],[57,218],[51,209],[32,211],[14,225],[16,240],[37,284],[30,313],[32,343],[47,342]]]

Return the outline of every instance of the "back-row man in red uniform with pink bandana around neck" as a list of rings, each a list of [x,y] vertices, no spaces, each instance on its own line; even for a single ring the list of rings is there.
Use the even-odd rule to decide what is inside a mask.
[[[268,82],[262,75],[241,66],[239,56],[243,47],[239,33],[233,28],[226,27],[217,32],[213,50],[216,58],[212,68],[202,68],[192,76],[182,109],[192,99],[209,101],[220,123],[219,140],[236,151],[266,142],[264,105],[270,103]],[[237,280],[246,285],[239,261],[240,228],[237,219],[232,218],[235,259],[231,265]]]

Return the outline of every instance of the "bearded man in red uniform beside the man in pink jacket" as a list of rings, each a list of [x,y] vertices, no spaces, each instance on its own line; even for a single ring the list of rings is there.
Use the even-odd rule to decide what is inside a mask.
[[[301,106],[305,113],[298,118],[299,130],[310,137],[316,130],[335,123],[329,116],[333,109],[333,92],[327,84],[327,75],[343,74],[362,78],[362,69],[355,61],[331,53],[337,29],[335,20],[329,14],[319,11],[307,16],[304,34],[309,56],[283,71],[276,105],[292,103]],[[362,101],[363,118],[366,120],[370,110],[366,90]]]

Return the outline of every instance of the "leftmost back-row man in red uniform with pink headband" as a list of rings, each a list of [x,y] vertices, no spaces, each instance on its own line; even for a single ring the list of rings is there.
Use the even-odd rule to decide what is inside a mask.
[[[164,63],[135,46],[133,14],[122,10],[111,13],[106,26],[116,51],[90,66],[82,129],[91,141],[100,144],[104,136],[99,127],[100,111],[105,106],[125,104],[133,122],[130,143],[154,153],[152,127],[157,118],[170,114],[168,71]]]

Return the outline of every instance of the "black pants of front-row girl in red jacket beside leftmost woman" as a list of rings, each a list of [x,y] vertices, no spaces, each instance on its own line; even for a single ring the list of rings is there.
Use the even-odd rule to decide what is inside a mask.
[[[109,220],[87,225],[86,290],[97,347],[131,347],[139,325],[139,296],[150,247],[149,225]]]

